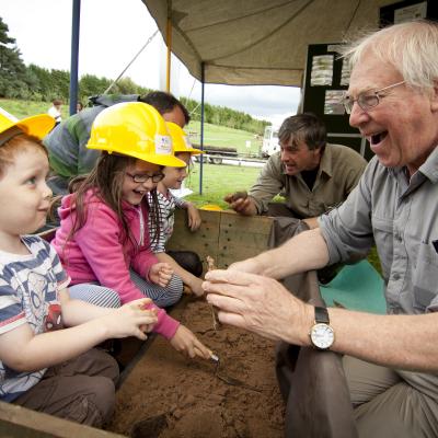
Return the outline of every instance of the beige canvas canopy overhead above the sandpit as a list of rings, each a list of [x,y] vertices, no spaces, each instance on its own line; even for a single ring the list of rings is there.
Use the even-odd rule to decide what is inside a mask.
[[[301,87],[309,44],[377,28],[379,8],[394,0],[142,2],[172,53],[199,81]]]

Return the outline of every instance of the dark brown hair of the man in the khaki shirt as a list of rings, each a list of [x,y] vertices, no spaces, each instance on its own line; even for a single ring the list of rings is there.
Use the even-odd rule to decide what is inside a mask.
[[[283,122],[278,131],[281,142],[292,139],[293,143],[303,141],[310,150],[324,148],[327,131],[324,123],[312,113],[297,114]]]

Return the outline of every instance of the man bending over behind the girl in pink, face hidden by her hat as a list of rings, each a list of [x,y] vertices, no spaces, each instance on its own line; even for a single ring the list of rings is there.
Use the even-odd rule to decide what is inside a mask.
[[[53,173],[47,184],[55,195],[66,195],[68,184],[77,175],[89,173],[100,151],[85,148],[91,132],[91,125],[102,111],[120,102],[145,102],[154,106],[168,122],[182,128],[188,124],[191,116],[185,106],[172,94],[153,91],[146,95],[101,95],[91,99],[93,107],[82,110],[57,126],[44,139],[48,149]]]

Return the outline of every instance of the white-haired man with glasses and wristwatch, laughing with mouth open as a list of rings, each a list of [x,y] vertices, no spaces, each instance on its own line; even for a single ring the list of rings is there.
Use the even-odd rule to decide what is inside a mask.
[[[204,284],[222,322],[344,354],[361,437],[438,436],[437,42],[437,24],[411,22],[349,48],[345,106],[376,153],[359,185],[320,228]],[[365,256],[374,241],[388,315],[314,308],[273,279]]]

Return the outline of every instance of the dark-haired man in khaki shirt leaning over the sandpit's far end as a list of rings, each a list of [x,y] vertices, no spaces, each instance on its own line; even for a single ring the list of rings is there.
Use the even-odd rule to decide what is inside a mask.
[[[324,123],[306,113],[288,117],[278,131],[280,151],[263,168],[249,196],[227,195],[242,215],[292,216],[318,227],[316,216],[341,204],[357,185],[367,162],[355,150],[326,142]],[[283,194],[285,204],[268,204]]]

